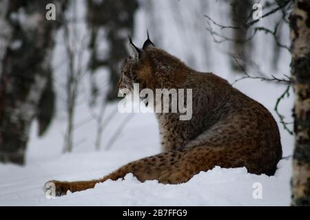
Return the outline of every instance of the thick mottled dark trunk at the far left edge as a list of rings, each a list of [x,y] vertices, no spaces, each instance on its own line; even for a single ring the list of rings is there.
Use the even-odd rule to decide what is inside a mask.
[[[24,164],[30,124],[38,115],[46,119],[38,107],[42,95],[48,96],[54,34],[64,2],[54,0],[56,21],[48,21],[45,7],[51,1],[0,1],[5,36],[0,53],[0,162]]]

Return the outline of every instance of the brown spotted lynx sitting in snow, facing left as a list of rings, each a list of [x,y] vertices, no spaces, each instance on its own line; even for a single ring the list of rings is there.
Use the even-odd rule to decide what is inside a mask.
[[[175,56],[158,49],[147,34],[140,49],[121,68],[118,88],[192,89],[192,118],[179,113],[156,113],[163,153],[131,162],[101,179],[50,181],[56,195],[94,188],[107,179],[132,173],[140,181],[181,184],[200,171],[220,166],[245,166],[249,173],[273,175],[282,157],[276,121],[262,104],[232,87],[213,73],[197,72]]]

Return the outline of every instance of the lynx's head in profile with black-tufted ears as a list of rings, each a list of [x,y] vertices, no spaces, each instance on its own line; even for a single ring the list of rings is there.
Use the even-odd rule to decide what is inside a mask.
[[[136,47],[132,43],[129,36],[130,46],[132,47],[132,55],[128,56],[121,67],[121,78],[118,81],[118,89],[129,89],[132,91],[134,83],[140,83],[140,89],[147,85],[147,79],[152,75],[152,61],[147,52],[151,48],[155,48],[154,43],[149,39],[143,44],[142,49]]]

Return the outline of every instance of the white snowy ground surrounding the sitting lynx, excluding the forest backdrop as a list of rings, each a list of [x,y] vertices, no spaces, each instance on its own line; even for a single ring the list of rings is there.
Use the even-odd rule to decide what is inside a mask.
[[[265,96],[262,103],[272,111],[274,97],[278,88],[273,85],[255,82],[240,83],[242,90],[256,89],[264,85]],[[249,89],[248,88],[248,89]],[[247,93],[249,94],[249,93]],[[268,95],[268,96],[267,96]],[[258,97],[256,97],[258,98]],[[258,98],[259,100],[260,98]],[[288,104],[282,111],[289,111]],[[112,111],[114,105],[109,107]],[[79,111],[77,118],[83,118]],[[125,117],[120,115],[118,120]],[[109,130],[114,129],[113,123]],[[157,181],[141,183],[132,175],[124,181],[106,181],[96,188],[75,192],[56,199],[46,199],[43,184],[50,179],[81,180],[102,177],[133,159],[139,159],[160,151],[157,122],[152,114],[136,114],[125,126],[121,136],[109,151],[94,151],[94,144],[83,142],[94,132],[94,122],[76,130],[76,140],[81,142],[72,154],[61,154],[63,120],[58,118],[52,124],[48,135],[43,139],[36,137],[36,124],[27,155],[27,166],[0,165],[0,204],[31,206],[148,206],[148,205],[184,205],[184,206],[287,206],[289,205],[289,179],[291,160],[282,159],[274,177],[251,175],[245,168],[222,169],[216,167],[201,172],[185,184],[163,185]],[[282,146],[284,155],[291,154],[292,137],[283,131]],[[110,132],[107,132],[109,138]],[[103,137],[105,138],[105,137]],[[103,146],[104,148],[104,146]],[[262,184],[262,199],[254,199],[253,184]]]

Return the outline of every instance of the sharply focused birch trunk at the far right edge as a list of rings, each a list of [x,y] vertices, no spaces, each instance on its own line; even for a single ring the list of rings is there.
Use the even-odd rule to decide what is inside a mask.
[[[310,0],[294,2],[290,17],[291,76],[295,103],[293,109],[295,150],[292,206],[310,205]]]

